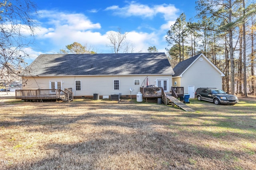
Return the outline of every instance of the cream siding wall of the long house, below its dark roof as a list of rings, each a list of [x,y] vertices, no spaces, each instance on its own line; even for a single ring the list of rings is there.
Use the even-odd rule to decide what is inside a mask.
[[[148,76],[149,84],[156,84],[157,79],[168,79],[168,89],[172,86],[172,75],[131,75],[131,76],[56,76],[56,77],[24,77],[25,86],[22,89],[49,89],[49,81],[62,80],[62,89],[72,88],[74,96],[93,96],[94,93],[100,93],[100,96],[109,96],[111,94],[122,93],[130,95],[130,88],[135,89],[132,95],[140,92],[140,86],[134,85],[134,80],[144,80]],[[27,81],[26,81],[27,80]],[[81,90],[75,90],[76,80],[81,81]],[[119,80],[119,89],[114,90],[113,80]],[[145,81],[140,85],[146,85]]]

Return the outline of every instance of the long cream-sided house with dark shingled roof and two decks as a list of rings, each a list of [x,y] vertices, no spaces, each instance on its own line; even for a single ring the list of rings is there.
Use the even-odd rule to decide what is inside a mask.
[[[172,86],[172,67],[164,53],[40,55],[22,77],[22,89],[72,88],[74,96],[132,95],[140,86]],[[162,83],[163,82],[163,83]]]

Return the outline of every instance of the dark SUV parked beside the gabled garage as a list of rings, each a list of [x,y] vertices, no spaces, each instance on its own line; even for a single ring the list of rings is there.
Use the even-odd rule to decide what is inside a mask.
[[[238,98],[234,95],[227,94],[218,88],[198,88],[195,97],[198,100],[214,102],[214,104],[237,104]]]

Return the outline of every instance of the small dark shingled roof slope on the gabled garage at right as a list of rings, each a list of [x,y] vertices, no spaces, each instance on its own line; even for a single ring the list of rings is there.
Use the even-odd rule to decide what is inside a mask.
[[[172,77],[180,76],[180,74],[182,74],[200,55],[202,55],[202,53],[178,63],[173,68],[175,74]]]

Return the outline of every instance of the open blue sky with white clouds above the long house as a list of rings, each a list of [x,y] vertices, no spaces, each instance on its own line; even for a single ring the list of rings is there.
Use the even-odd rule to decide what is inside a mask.
[[[196,15],[195,0],[34,0],[38,27],[30,56],[58,53],[73,42],[87,45],[96,53],[112,53],[109,31],[128,32],[133,52],[156,46],[166,52],[166,32],[184,12],[187,20]],[[121,51],[122,52],[122,51]]]

